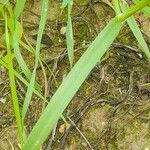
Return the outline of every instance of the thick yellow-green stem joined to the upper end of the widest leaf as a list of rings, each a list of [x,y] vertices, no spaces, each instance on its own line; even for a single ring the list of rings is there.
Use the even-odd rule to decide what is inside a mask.
[[[118,20],[123,22],[142,8],[144,8],[147,4],[150,3],[150,0],[142,0],[138,2],[136,5],[132,6],[129,10],[127,10],[125,13],[118,15]]]

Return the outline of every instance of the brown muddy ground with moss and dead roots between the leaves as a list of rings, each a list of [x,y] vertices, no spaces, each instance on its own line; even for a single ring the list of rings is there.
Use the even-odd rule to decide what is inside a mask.
[[[28,40],[33,47],[40,6],[41,0],[30,0],[22,15],[24,40]],[[60,6],[59,0],[50,4],[42,39],[41,58],[47,63],[47,66],[44,65],[48,79],[46,91],[42,68],[38,68],[37,79],[48,99],[70,71],[64,35],[67,11],[62,12]],[[72,15],[77,61],[115,13],[107,0],[76,0]],[[136,18],[150,46],[150,20],[142,14]],[[22,54],[32,69],[34,56],[24,49]],[[0,93],[0,149],[17,150],[19,146],[9,81],[6,70],[2,67],[1,70],[1,80],[4,82]],[[42,149],[142,150],[150,141],[150,87],[144,86],[149,82],[150,65],[125,24],[101,63],[91,71],[64,112],[68,124],[59,120]],[[21,107],[26,87],[19,80],[17,85]],[[44,105],[42,100],[34,96],[26,120],[28,132],[39,118]],[[150,145],[146,145],[146,148],[150,149]]]

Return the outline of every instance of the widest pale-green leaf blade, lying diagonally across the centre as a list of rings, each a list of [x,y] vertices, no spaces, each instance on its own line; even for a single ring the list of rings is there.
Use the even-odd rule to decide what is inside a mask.
[[[117,37],[121,26],[122,24],[117,18],[113,19],[92,42],[51,98],[31,131],[23,150],[38,150],[40,148],[88,74]]]

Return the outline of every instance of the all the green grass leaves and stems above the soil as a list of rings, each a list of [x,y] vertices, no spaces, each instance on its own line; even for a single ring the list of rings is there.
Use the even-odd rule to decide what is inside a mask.
[[[68,21],[66,28],[66,43],[67,52],[70,62],[70,72],[63,80],[53,97],[50,99],[46,108],[41,114],[41,117],[35,124],[31,133],[28,135],[25,130],[25,118],[29,109],[30,101],[33,93],[40,99],[47,102],[45,96],[41,94],[41,87],[36,81],[37,67],[41,62],[40,48],[42,35],[46,25],[47,13],[49,8],[49,0],[42,1],[41,19],[39,23],[38,36],[36,47],[26,44],[23,41],[23,29],[20,21],[21,13],[23,12],[25,0],[17,0],[15,10],[13,10],[9,1],[4,1],[0,4],[0,16],[4,23],[5,42],[0,43],[7,49],[7,54],[0,54],[0,64],[8,69],[10,88],[15,112],[16,123],[18,127],[18,136],[23,150],[38,150],[51,133],[56,122],[62,116],[62,113],[76,94],[86,77],[89,75],[94,66],[102,59],[106,51],[109,49],[113,41],[118,36],[123,24],[127,21],[131,31],[137,39],[139,45],[148,61],[150,61],[150,51],[143,38],[143,35],[136,23],[134,14],[138,11],[143,11],[147,15],[150,14],[148,4],[150,0],[134,1],[134,5],[129,7],[126,1],[113,0],[116,17],[114,17],[105,28],[98,34],[96,39],[90,44],[81,58],[74,64],[74,40],[71,21],[71,11],[73,10],[73,1],[64,0],[62,8],[68,6]],[[20,52],[20,47],[24,47],[29,53],[35,56],[33,71],[27,65]],[[17,60],[24,77],[14,69],[14,61]],[[80,75],[80,76],[79,76]],[[27,91],[24,97],[22,109],[19,108],[19,98],[17,96],[15,78],[21,80],[26,86]],[[74,82],[75,81],[75,82]],[[63,117],[62,117],[63,118]],[[40,133],[40,134],[37,134]]]

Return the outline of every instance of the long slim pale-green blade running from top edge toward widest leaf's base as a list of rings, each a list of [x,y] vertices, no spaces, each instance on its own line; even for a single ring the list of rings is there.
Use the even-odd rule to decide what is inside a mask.
[[[22,122],[24,122],[24,119],[25,119],[25,116],[26,116],[26,113],[27,113],[27,110],[28,110],[28,107],[32,98],[32,93],[34,91],[36,69],[38,66],[39,55],[40,55],[41,39],[42,39],[42,34],[44,31],[46,19],[47,19],[48,1],[49,0],[43,0],[42,2],[41,20],[40,20],[40,25],[39,25],[39,30],[38,30],[36,52],[35,52],[35,66],[34,66],[34,70],[31,76],[31,80],[27,89],[27,93],[26,93],[23,108],[22,108]]]

